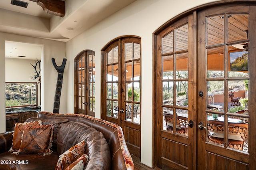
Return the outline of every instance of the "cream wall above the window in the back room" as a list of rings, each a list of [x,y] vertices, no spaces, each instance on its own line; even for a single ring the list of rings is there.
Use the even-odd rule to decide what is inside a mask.
[[[5,59],[5,81],[6,82],[37,82],[38,79],[31,79],[35,75],[32,65],[35,61],[31,59]]]

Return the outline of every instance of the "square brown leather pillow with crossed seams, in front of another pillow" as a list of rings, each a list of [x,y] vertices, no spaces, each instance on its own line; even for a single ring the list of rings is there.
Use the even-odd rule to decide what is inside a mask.
[[[53,128],[51,125],[25,127],[19,154],[51,154]]]

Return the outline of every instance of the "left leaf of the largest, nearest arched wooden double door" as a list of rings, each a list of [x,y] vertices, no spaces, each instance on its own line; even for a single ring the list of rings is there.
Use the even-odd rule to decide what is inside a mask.
[[[188,169],[196,147],[194,126],[196,40],[194,16],[189,15],[155,36],[156,58],[156,162],[162,169]],[[194,37],[194,38],[193,38]],[[195,124],[195,125],[194,125]]]

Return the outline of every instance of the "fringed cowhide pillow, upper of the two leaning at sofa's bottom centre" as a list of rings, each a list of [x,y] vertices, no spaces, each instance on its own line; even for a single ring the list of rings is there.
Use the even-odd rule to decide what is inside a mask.
[[[55,170],[65,170],[70,164],[80,158],[85,151],[85,141],[72,146],[69,150],[61,154],[57,162]]]

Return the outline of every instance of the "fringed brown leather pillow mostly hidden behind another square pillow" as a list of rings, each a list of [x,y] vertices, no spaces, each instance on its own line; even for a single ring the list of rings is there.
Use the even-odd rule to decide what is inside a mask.
[[[16,123],[14,126],[14,132],[12,134],[12,147],[10,151],[16,152],[20,149],[21,136],[25,126],[38,126],[42,125],[42,121]]]

